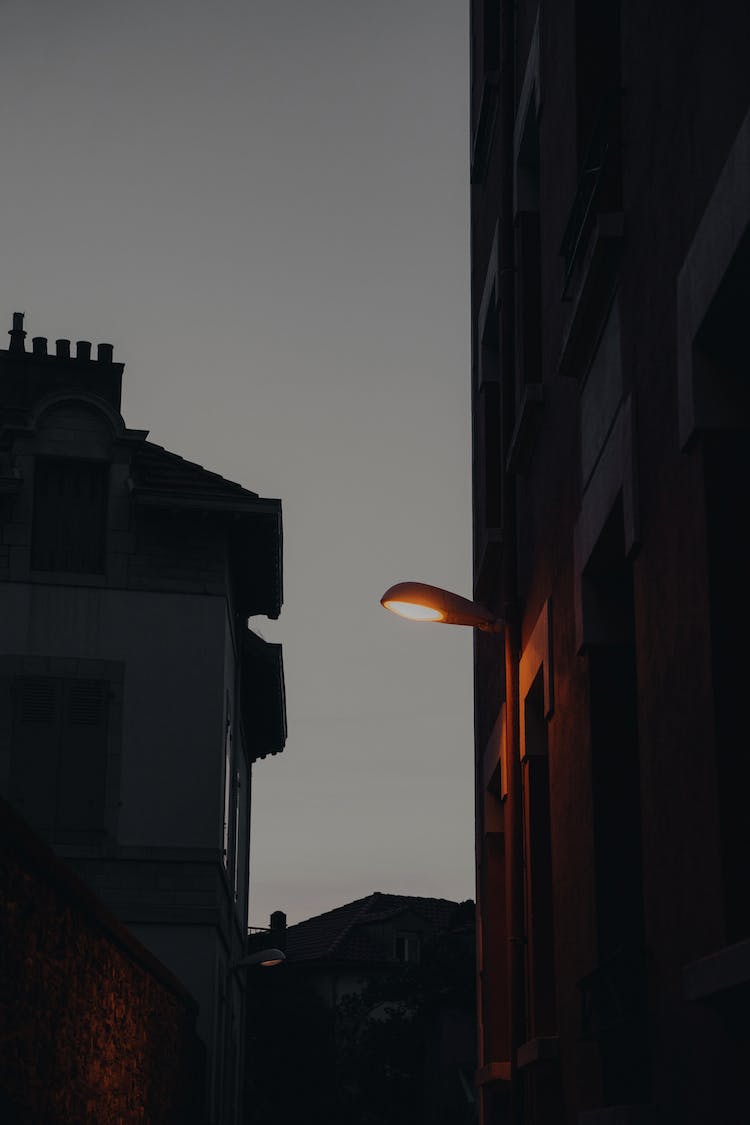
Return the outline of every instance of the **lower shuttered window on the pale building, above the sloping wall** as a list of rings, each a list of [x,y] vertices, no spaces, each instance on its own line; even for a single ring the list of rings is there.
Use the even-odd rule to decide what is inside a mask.
[[[13,681],[11,799],[46,839],[103,831],[109,685],[103,680]]]

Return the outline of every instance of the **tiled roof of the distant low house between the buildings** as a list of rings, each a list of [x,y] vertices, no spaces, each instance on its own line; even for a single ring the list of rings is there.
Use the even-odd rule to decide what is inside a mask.
[[[396,922],[405,912],[419,915],[431,933],[448,929],[459,907],[448,899],[382,894],[374,891],[335,910],[307,918],[287,929],[289,961],[383,961],[391,960],[378,934],[379,922]]]

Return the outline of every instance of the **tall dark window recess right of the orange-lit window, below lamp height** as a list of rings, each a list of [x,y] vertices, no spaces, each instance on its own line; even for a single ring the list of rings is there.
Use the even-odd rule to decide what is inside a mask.
[[[650,1088],[635,605],[623,525],[618,500],[584,576],[606,642],[588,649],[598,964],[581,989],[607,1105],[648,1101]]]

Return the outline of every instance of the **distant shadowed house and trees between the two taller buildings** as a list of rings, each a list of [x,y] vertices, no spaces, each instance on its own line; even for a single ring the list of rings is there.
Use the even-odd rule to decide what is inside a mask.
[[[257,948],[249,1006],[254,1125],[472,1125],[475,903],[374,892]],[[288,1080],[295,1059],[295,1081]]]

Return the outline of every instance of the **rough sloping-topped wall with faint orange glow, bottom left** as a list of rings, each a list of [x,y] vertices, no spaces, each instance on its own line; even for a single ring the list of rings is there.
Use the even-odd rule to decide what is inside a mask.
[[[196,1005],[0,803],[0,1117],[198,1123]]]

